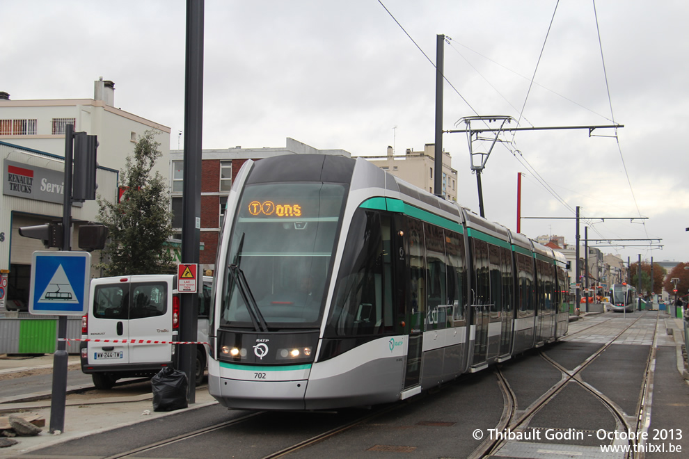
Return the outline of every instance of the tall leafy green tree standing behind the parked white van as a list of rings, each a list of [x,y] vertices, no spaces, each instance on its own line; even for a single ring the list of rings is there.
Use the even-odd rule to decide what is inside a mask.
[[[165,246],[173,234],[168,187],[159,172],[151,172],[162,156],[155,135],[154,130],[145,131],[134,156],[127,156],[127,166],[120,173],[125,190],[120,202],[97,199],[100,221],[109,228],[111,239],[98,266],[105,275],[174,271],[173,257]]]

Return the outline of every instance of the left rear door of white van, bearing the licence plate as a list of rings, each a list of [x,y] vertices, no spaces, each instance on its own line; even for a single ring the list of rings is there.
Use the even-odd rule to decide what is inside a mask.
[[[129,339],[129,277],[118,277],[116,282],[112,278],[91,280],[90,298],[88,364],[129,363],[129,348],[121,342]],[[120,342],[113,343],[113,340]]]

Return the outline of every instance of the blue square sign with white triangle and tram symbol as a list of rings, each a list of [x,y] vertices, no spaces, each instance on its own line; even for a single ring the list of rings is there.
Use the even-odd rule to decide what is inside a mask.
[[[33,252],[29,312],[58,316],[86,314],[90,271],[88,252]]]

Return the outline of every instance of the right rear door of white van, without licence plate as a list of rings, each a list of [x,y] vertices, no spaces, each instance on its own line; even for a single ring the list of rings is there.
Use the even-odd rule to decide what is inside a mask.
[[[134,275],[129,287],[129,363],[171,362],[173,276]]]

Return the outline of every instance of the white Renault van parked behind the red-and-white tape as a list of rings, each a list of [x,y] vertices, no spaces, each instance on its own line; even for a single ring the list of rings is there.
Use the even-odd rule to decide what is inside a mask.
[[[198,342],[208,339],[212,280],[203,277],[203,288],[199,288]],[[87,340],[80,346],[81,371],[92,375],[97,389],[110,389],[120,378],[151,377],[162,367],[174,366],[177,346],[196,346],[196,385],[203,382],[207,348],[167,344],[179,341],[177,275],[92,279],[89,298],[88,314],[81,319],[81,339]],[[95,341],[105,339],[109,342]]]

